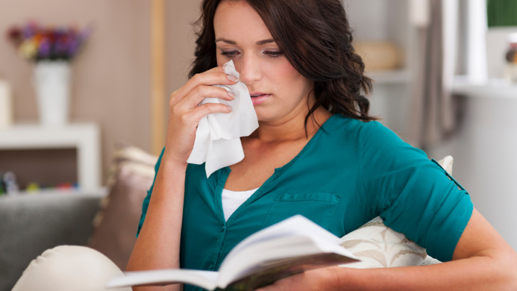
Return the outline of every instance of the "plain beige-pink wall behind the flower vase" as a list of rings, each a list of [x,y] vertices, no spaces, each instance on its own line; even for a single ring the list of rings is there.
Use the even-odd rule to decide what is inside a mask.
[[[3,0],[0,4],[0,78],[13,86],[18,123],[38,121],[31,85],[33,64],[19,57],[6,40],[7,28],[29,19],[41,24],[94,25],[94,33],[73,62],[71,121],[100,125],[104,182],[117,141],[145,151],[151,148],[149,8],[148,0]],[[189,37],[190,22],[199,17],[199,1],[169,0],[165,13],[169,95],[187,80],[194,42]],[[164,100],[167,110],[169,96]]]

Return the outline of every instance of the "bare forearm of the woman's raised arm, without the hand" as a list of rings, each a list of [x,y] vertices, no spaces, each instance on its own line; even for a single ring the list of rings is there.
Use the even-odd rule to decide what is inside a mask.
[[[163,156],[128,271],[179,268],[186,167]]]

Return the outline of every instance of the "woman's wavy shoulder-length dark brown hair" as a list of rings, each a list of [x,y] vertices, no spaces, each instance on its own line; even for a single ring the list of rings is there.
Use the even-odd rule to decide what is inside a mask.
[[[221,1],[204,0],[197,27],[195,60],[189,78],[217,66],[214,15]],[[352,30],[341,0],[241,0],[260,15],[271,36],[298,72],[314,81],[316,103],[305,118],[324,106],[331,113],[371,121],[372,90],[364,63],[352,46]]]

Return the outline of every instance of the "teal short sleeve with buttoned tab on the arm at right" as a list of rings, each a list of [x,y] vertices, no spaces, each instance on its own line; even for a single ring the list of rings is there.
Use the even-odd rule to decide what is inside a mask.
[[[381,123],[361,132],[361,179],[385,225],[441,261],[452,259],[473,205],[461,185]]]

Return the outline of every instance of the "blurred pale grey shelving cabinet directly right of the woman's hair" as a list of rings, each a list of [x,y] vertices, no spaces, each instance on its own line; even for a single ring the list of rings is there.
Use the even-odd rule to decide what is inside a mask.
[[[354,40],[390,41],[402,56],[399,68],[366,72],[374,80],[370,114],[404,138],[415,75],[416,31],[409,24],[408,0],[343,0]]]

